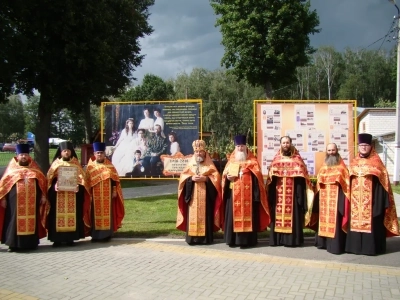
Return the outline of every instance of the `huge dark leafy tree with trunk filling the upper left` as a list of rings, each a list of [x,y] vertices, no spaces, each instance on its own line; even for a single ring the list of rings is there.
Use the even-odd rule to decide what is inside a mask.
[[[40,93],[35,159],[49,164],[51,116],[63,108],[84,113],[91,129],[90,104],[118,94],[144,58],[139,39],[151,34],[148,7],[154,0],[3,0],[0,38],[7,72],[1,91]],[[8,43],[8,44],[7,44]],[[4,49],[4,50],[3,50]],[[3,88],[4,87],[4,88]],[[87,137],[90,133],[87,132]]]

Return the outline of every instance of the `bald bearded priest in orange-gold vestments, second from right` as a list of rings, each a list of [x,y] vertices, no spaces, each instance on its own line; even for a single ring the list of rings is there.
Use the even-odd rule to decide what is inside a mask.
[[[342,254],[346,245],[346,232],[342,229],[345,203],[350,199],[349,171],[338,152],[337,145],[326,147],[325,162],[317,175],[313,213],[318,215],[315,246],[332,254]]]

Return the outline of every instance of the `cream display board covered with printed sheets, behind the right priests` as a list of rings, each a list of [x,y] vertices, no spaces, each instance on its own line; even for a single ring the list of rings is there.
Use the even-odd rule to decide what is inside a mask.
[[[328,143],[336,143],[346,165],[354,156],[353,107],[356,101],[304,104],[256,100],[257,157],[263,175],[280,149],[280,138],[290,136],[311,176],[325,160]],[[279,103],[280,102],[280,103]],[[288,101],[290,102],[290,101]],[[292,101],[295,102],[295,101]]]

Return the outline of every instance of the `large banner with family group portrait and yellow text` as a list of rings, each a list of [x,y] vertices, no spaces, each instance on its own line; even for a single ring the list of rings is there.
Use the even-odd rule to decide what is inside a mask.
[[[201,100],[103,102],[102,108],[102,140],[120,177],[179,177],[201,136]]]

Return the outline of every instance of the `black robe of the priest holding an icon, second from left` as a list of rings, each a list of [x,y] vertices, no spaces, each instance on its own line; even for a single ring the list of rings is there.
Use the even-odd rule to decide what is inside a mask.
[[[50,211],[47,218],[48,239],[56,243],[63,243],[63,242],[68,243],[74,240],[85,238],[85,224],[83,222],[83,202],[85,195],[85,187],[79,185],[79,191],[75,194],[76,230],[71,232],[57,232],[56,231],[57,192],[54,189],[56,183],[57,183],[57,178],[54,178],[48,193],[50,200]]]

